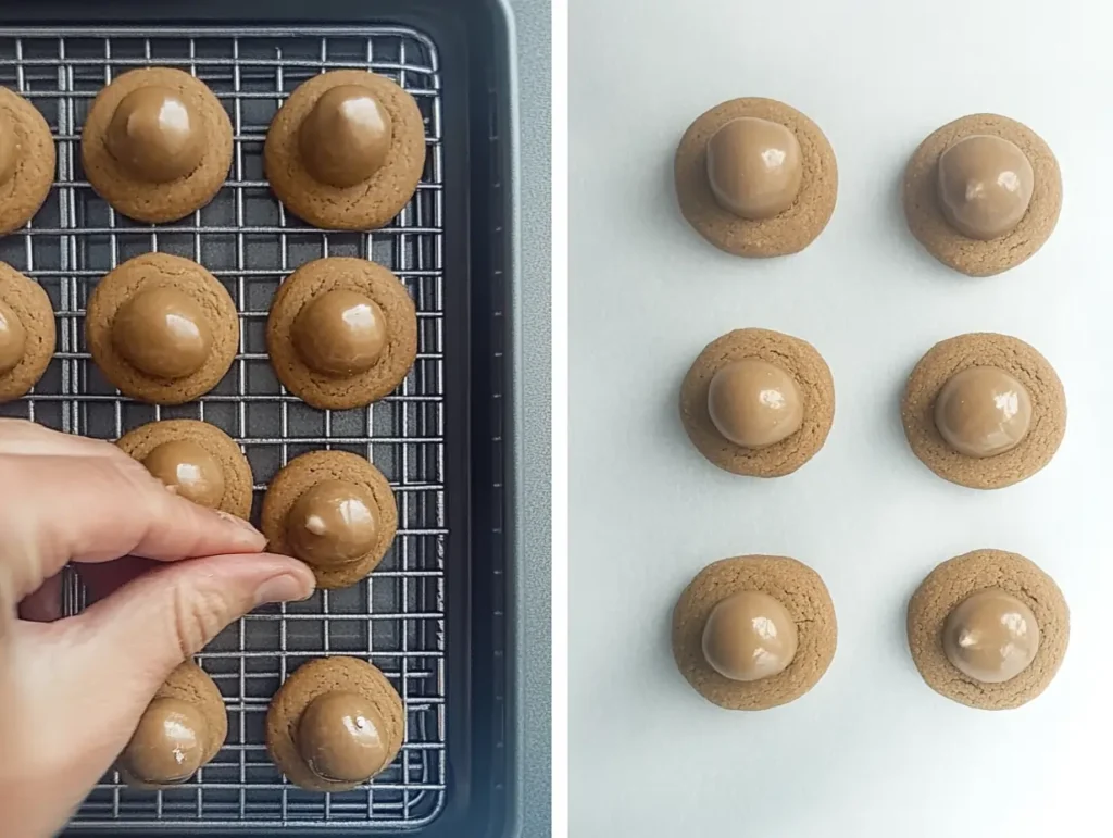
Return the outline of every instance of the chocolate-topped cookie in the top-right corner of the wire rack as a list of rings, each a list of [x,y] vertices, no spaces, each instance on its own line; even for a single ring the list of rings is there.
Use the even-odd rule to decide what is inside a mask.
[[[425,125],[417,102],[391,79],[334,70],[290,93],[263,156],[270,188],[299,218],[325,229],[377,229],[417,188]]]

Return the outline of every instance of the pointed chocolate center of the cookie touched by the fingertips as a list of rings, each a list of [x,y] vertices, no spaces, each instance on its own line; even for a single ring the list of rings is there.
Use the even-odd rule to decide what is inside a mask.
[[[326,480],[306,490],[286,516],[294,555],[335,566],[366,555],[378,540],[375,499],[363,486]]]

